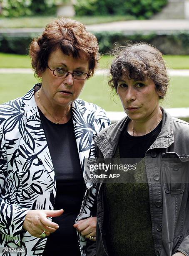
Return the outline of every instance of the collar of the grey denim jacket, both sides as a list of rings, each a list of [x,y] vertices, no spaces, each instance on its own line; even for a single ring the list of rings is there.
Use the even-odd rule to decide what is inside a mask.
[[[168,148],[172,143],[174,143],[173,136],[173,120],[171,115],[162,109],[162,130],[157,136],[156,141],[151,145],[149,149],[153,148]],[[129,118],[125,117],[117,123],[104,129],[95,138],[95,143],[97,144],[99,150],[102,152],[104,158],[111,158],[114,156],[117,149],[119,136],[126,129]]]

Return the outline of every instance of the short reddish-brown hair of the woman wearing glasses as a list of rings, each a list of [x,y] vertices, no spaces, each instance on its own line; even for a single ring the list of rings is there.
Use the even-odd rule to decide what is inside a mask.
[[[74,58],[80,58],[80,54],[84,53],[89,60],[89,73],[91,76],[94,74],[100,57],[97,38],[82,23],[60,18],[49,23],[42,35],[30,44],[30,58],[35,75],[45,71],[51,52],[58,48]]]

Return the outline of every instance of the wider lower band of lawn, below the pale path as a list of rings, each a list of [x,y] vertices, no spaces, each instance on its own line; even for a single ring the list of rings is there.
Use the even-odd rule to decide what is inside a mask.
[[[188,94],[189,77],[172,77],[165,108],[189,107]],[[0,103],[24,95],[37,82],[32,74],[0,74]],[[181,90],[182,88],[182,90]],[[117,96],[112,99],[111,90],[107,86],[106,76],[94,76],[89,79],[80,95],[83,100],[96,103],[107,111],[122,111]]]

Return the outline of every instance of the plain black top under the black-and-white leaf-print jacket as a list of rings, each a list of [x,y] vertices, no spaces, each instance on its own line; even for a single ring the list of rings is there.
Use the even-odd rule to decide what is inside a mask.
[[[65,124],[55,124],[40,113],[52,164],[55,170],[56,198],[54,210],[63,209],[60,217],[52,218],[59,225],[47,238],[43,256],[79,256],[77,232],[73,227],[80,212],[85,193],[80,159],[75,140],[72,118]]]

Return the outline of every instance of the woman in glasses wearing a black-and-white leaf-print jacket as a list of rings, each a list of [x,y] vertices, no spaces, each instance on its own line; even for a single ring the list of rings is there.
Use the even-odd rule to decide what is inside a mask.
[[[84,161],[109,125],[102,108],[78,99],[99,60],[97,38],[60,18],[32,41],[30,56],[41,82],[0,106],[0,246],[9,255],[86,256],[97,190],[83,178]]]

